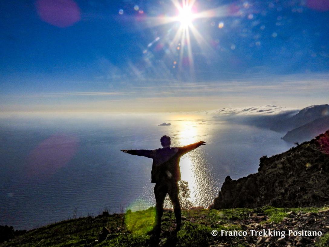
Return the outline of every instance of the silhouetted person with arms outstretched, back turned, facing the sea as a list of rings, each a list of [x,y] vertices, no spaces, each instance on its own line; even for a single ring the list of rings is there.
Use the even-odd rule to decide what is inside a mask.
[[[164,198],[168,193],[174,213],[176,217],[177,226],[179,230],[182,225],[181,219],[181,206],[178,200],[178,181],[181,180],[181,171],[179,168],[179,159],[187,152],[196,149],[205,142],[197,142],[184,147],[170,148],[170,137],[164,135],[160,139],[162,149],[155,150],[121,150],[133,155],[145,156],[153,159],[151,182],[155,183],[154,195],[156,201],[156,216],[155,226],[153,232],[160,234],[161,231],[161,218],[163,214]]]

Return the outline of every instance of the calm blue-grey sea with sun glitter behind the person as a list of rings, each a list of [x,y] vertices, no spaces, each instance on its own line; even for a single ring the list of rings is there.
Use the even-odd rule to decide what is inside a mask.
[[[154,206],[152,160],[120,149],[206,141],[181,158],[191,201],[209,206],[226,176],[257,172],[259,158],[288,150],[282,133],[211,114],[42,113],[1,116],[0,225],[32,229],[88,214]],[[162,123],[170,126],[158,126]]]

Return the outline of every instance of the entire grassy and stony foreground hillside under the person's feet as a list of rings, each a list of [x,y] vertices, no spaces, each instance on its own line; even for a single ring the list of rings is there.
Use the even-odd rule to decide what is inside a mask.
[[[9,246],[148,246],[154,208],[125,214],[106,212],[97,217],[70,219],[16,236]],[[329,246],[329,208],[236,208],[183,210],[184,225],[175,234],[175,217],[165,210],[159,246]],[[103,227],[106,227],[109,232]],[[304,229],[321,231],[321,237],[213,236],[213,230]],[[106,231],[105,231],[106,230]],[[105,235],[104,235],[105,234]],[[102,236],[103,235],[103,236]],[[105,239],[104,241],[99,241]],[[281,241],[281,242],[280,242]],[[294,245],[291,245],[294,246]]]

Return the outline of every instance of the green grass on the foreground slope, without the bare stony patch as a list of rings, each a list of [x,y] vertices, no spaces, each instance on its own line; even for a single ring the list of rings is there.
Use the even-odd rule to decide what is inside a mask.
[[[176,241],[177,247],[209,246],[215,241],[233,243],[234,237],[219,238],[211,235],[212,230],[241,230],[239,221],[248,219],[254,213],[264,213],[271,222],[280,222],[287,212],[318,212],[326,208],[275,208],[264,206],[257,209],[193,209],[182,210],[182,215],[190,219],[185,221],[182,229],[173,237],[175,216],[172,211],[165,211],[162,223],[162,242],[160,246],[170,246],[170,241]],[[155,210],[147,210],[126,214],[112,214],[109,216],[84,217],[70,219],[56,224],[51,224],[15,237],[11,242],[0,244],[1,247],[71,247],[71,246],[147,246],[150,236],[146,233],[152,229]],[[107,240],[96,243],[99,231],[103,227],[110,229],[111,234]],[[167,232],[167,233],[165,233]],[[329,247],[329,233],[324,234],[317,243],[318,247]],[[236,242],[235,242],[236,243]],[[236,245],[234,245],[236,246]],[[245,246],[244,243],[240,247]]]

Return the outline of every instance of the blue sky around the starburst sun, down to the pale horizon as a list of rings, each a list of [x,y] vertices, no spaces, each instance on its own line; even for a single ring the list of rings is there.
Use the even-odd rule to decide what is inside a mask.
[[[328,103],[329,0],[195,1],[192,12],[188,41],[174,39],[179,19],[158,25],[179,15],[171,1],[2,3],[1,111]]]

